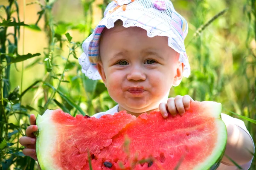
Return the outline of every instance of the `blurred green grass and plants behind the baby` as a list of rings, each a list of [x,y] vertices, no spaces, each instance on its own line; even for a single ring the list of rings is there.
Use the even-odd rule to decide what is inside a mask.
[[[109,2],[1,0],[0,170],[37,169],[18,144],[29,114],[61,108],[93,115],[116,105],[101,81],[81,73],[77,60]],[[243,120],[256,141],[256,0],[172,2],[189,23],[192,73],[170,96],[220,102],[222,112]],[[250,169],[256,169],[255,159]]]

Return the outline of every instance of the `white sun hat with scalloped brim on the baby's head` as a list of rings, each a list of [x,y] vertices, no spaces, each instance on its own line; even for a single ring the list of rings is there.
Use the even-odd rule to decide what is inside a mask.
[[[84,52],[79,57],[79,64],[87,77],[101,79],[96,69],[100,36],[105,28],[113,28],[117,20],[122,20],[125,28],[136,26],[145,29],[148,37],[168,37],[169,47],[180,54],[179,61],[184,64],[183,77],[189,77],[190,66],[184,45],[188,24],[175,11],[170,0],[112,1],[104,12],[104,18],[82,45]]]

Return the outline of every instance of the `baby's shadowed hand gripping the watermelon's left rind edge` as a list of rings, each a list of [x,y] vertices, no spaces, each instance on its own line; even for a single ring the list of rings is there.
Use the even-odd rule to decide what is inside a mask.
[[[26,129],[26,136],[22,136],[19,140],[20,144],[26,147],[23,149],[23,153],[26,156],[30,156],[31,158],[35,159],[38,161],[35,153],[35,142],[36,138],[33,132],[38,130],[37,125],[35,125],[35,115],[30,116],[30,126]]]

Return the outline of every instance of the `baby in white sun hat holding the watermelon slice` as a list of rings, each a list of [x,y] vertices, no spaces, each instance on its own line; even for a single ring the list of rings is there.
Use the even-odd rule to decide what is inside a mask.
[[[190,96],[169,98],[172,86],[180,84],[190,74],[184,39],[188,32],[186,20],[169,0],[114,0],[106,8],[104,18],[93,34],[84,41],[84,53],[79,58],[82,72],[90,79],[102,79],[111,98],[118,103],[106,112],[126,110],[139,116],[159,110],[181,116],[189,109]],[[254,152],[253,140],[244,122],[221,114],[227,126],[225,155],[243,169],[249,169]],[[20,144],[23,153],[37,160],[35,116]],[[250,153],[251,152],[251,153]],[[226,156],[218,170],[238,169]]]

